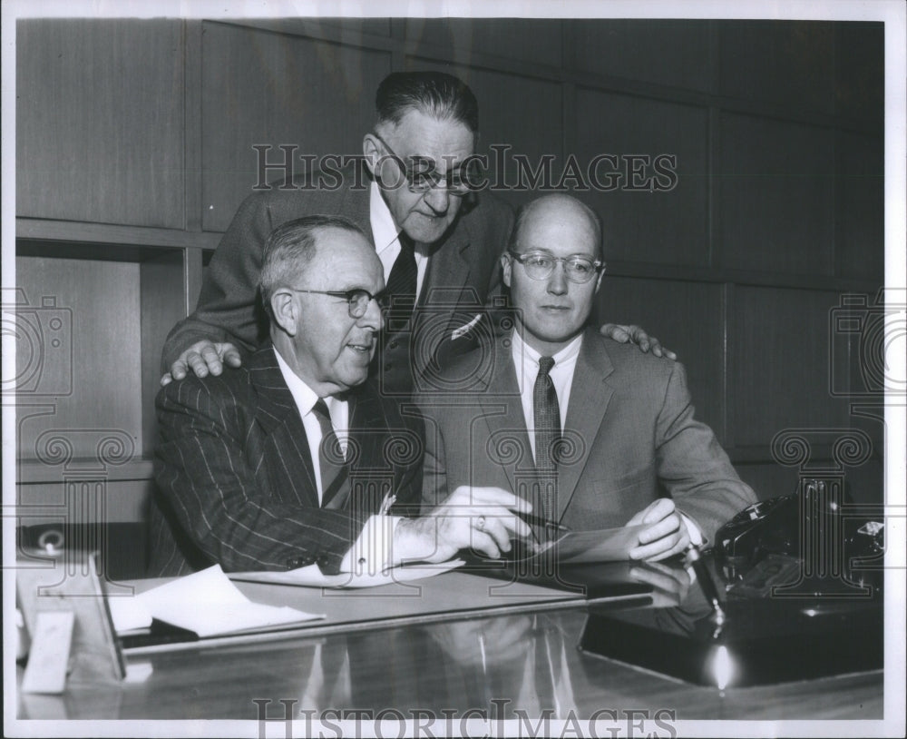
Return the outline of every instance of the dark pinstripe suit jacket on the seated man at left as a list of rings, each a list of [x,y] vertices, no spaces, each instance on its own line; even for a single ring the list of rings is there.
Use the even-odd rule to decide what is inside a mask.
[[[374,384],[350,402],[352,493],[319,507],[306,431],[270,345],[240,369],[158,393],[161,442],[151,511],[151,575],[219,563],[227,571],[317,563],[336,572],[385,494],[417,507],[423,429]]]

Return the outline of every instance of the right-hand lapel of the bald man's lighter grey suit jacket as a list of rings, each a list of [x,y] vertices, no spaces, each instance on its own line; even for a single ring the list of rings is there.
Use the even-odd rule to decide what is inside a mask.
[[[589,461],[590,450],[601,428],[601,420],[613,394],[605,379],[614,371],[602,338],[596,330],[587,330],[580,356],[573,372],[567,422],[564,428],[566,459],[558,473],[558,520],[564,515],[576,492],[582,470]],[[571,438],[572,437],[572,438]],[[570,453],[575,449],[576,453]]]

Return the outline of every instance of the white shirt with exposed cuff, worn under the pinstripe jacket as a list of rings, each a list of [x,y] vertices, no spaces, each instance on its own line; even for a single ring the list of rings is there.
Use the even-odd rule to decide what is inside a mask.
[[[308,451],[312,458],[315,484],[318,491],[318,503],[320,504],[321,497],[324,494],[324,490],[321,487],[321,465],[318,461],[318,448],[321,446],[322,438],[321,424],[318,423],[317,416],[312,410],[318,401],[318,396],[315,390],[309,388],[296,372],[290,369],[287,361],[280,356],[277,347],[274,348],[274,356],[278,358],[280,374],[283,375],[290,394],[296,401],[296,407],[302,417],[302,426],[306,429]],[[346,456],[346,442],[349,439],[349,403],[346,400],[339,400],[330,396],[325,398],[325,403],[331,417],[331,426],[334,427],[334,432],[340,442],[340,448],[343,449]],[[393,553],[391,547],[394,539],[394,529],[399,520],[400,517],[398,516],[375,515],[368,517],[359,537],[349,551],[346,552],[340,564],[340,571],[352,572],[356,575],[366,573],[375,575],[392,564]]]

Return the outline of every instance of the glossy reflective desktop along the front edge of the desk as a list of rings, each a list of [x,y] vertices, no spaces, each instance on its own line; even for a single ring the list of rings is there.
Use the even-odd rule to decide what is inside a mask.
[[[431,586],[423,596],[473,577],[434,577],[425,581]],[[272,603],[287,597],[280,593],[304,590],[254,587],[259,594],[260,588],[271,588]],[[309,598],[319,592],[306,590]],[[336,607],[356,593],[339,600],[330,595]],[[520,715],[516,712],[539,716],[546,709],[555,719],[617,712],[621,722],[621,712],[637,709],[648,711],[649,719],[662,711],[677,721],[883,717],[882,671],[722,691],[580,651],[589,609],[607,607],[628,606],[549,603],[469,617],[452,611],[433,623],[400,626],[385,620],[258,643],[127,652],[127,681],[69,685],[62,696],[20,695],[19,718],[256,721],[262,710],[268,718],[282,718],[285,705],[296,715],[339,709],[374,716],[392,709],[412,718],[415,709],[436,716],[477,710],[505,720]],[[133,674],[149,666],[150,675],[133,681]]]

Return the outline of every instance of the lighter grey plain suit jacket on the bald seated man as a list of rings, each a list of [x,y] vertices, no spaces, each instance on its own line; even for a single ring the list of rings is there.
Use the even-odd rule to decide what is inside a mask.
[[[460,485],[498,486],[538,500],[531,490],[532,448],[509,341],[496,340],[484,367],[443,398],[421,395],[425,415],[424,505]],[[712,430],[693,419],[683,367],[587,329],[563,430],[557,518],[576,530],[624,525],[668,495],[713,538],[756,497],[731,467]]]

